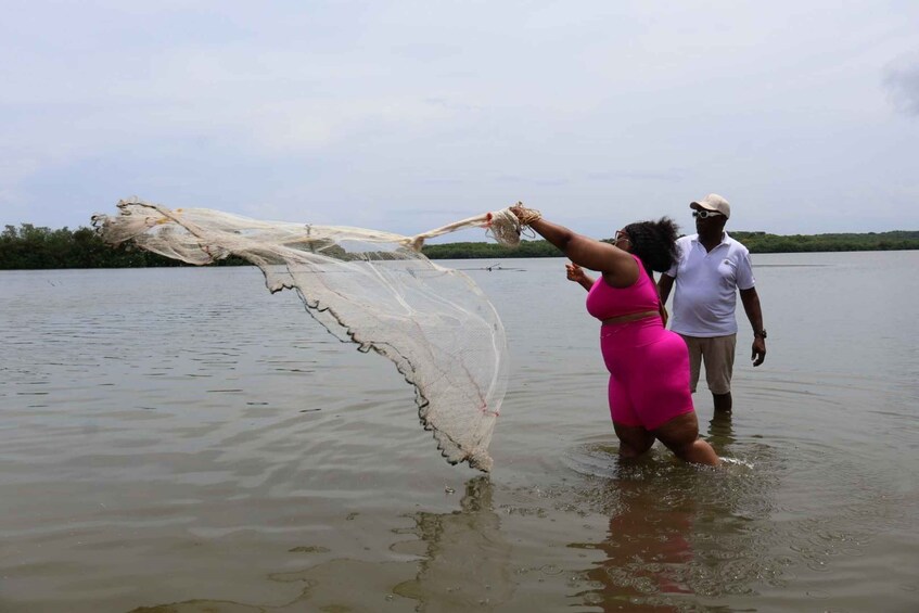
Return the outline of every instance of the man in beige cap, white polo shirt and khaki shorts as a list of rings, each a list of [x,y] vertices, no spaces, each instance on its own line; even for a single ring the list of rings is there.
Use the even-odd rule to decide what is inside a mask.
[[[718,194],[690,203],[697,234],[677,241],[679,260],[658,283],[666,303],[676,282],[671,329],[689,347],[690,388],[694,393],[701,365],[715,403],[715,413],[732,409],[730,380],[737,345],[737,292],[753,328],[753,366],[766,359],[766,330],[754,288],[750,252],[725,232],[730,204]]]

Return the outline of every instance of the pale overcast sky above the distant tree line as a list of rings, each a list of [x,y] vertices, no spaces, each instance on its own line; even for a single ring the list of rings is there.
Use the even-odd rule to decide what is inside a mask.
[[[0,227],[919,230],[915,0],[5,0]],[[449,241],[486,240],[478,230]],[[442,241],[443,242],[443,241]]]

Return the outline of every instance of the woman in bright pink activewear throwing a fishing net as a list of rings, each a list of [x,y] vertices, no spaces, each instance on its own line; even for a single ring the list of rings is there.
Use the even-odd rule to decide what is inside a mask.
[[[520,205],[511,212],[572,260],[566,265],[567,278],[588,290],[587,310],[602,321],[600,347],[610,371],[610,413],[620,456],[636,458],[656,438],[687,462],[717,465],[712,446],[699,438],[686,343],[664,329],[664,309],[652,273],[669,269],[676,258],[673,220],[630,224],[610,244],[547,221]],[[582,267],[600,277],[595,281]]]

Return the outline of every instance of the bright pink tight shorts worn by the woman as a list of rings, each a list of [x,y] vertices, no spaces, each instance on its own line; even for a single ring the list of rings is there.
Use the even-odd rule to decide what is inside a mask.
[[[613,422],[656,430],[694,410],[686,343],[660,318],[601,327],[600,349],[610,371]]]

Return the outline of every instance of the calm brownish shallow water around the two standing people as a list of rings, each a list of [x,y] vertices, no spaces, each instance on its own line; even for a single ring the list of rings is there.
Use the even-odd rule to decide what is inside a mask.
[[[919,253],[755,257],[720,471],[617,461],[562,263],[444,263],[508,330],[487,477],[254,268],[0,272],[0,611],[919,608]]]

